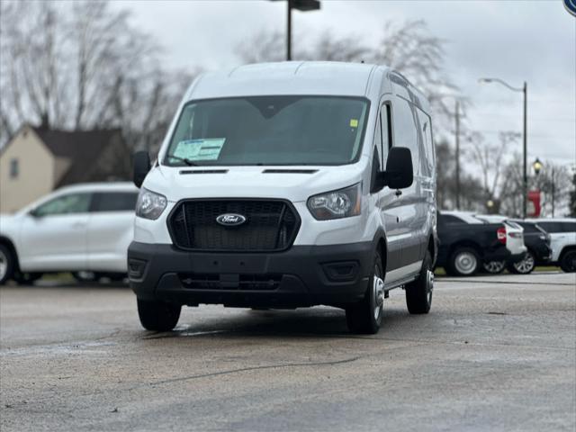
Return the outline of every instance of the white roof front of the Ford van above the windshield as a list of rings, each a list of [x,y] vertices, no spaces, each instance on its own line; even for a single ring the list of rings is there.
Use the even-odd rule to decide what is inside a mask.
[[[284,61],[233,67],[196,78],[186,100],[271,94],[338,94],[365,96],[375,70],[365,63]]]

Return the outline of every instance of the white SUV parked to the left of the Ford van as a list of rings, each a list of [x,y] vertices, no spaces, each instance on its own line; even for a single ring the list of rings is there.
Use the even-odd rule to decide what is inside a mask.
[[[3,214],[0,284],[49,272],[124,277],[137,196],[130,183],[77,184]]]

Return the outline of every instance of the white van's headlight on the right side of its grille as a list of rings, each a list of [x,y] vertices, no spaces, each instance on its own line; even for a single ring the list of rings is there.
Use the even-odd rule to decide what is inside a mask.
[[[349,218],[360,214],[361,183],[308,199],[308,209],[317,220]]]

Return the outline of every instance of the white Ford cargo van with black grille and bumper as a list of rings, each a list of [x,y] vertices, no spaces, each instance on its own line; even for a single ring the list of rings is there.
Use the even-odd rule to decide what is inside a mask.
[[[197,78],[140,187],[130,284],[144,328],[182,305],[346,310],[375,333],[404,287],[427,313],[437,255],[426,98],[387,67],[284,62]]]

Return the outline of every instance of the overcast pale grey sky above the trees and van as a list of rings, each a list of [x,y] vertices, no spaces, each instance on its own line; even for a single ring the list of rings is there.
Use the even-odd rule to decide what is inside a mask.
[[[175,67],[238,65],[242,40],[285,29],[284,1],[117,0],[114,7],[129,9]],[[529,160],[576,163],[576,18],[562,0],[322,0],[320,11],[293,13],[294,44],[328,29],[375,44],[386,21],[414,19],[426,20],[448,41],[446,73],[473,103],[464,120],[470,129],[488,139],[500,130],[522,130],[522,94],[479,85],[478,78],[496,76],[515,86],[526,80]]]

